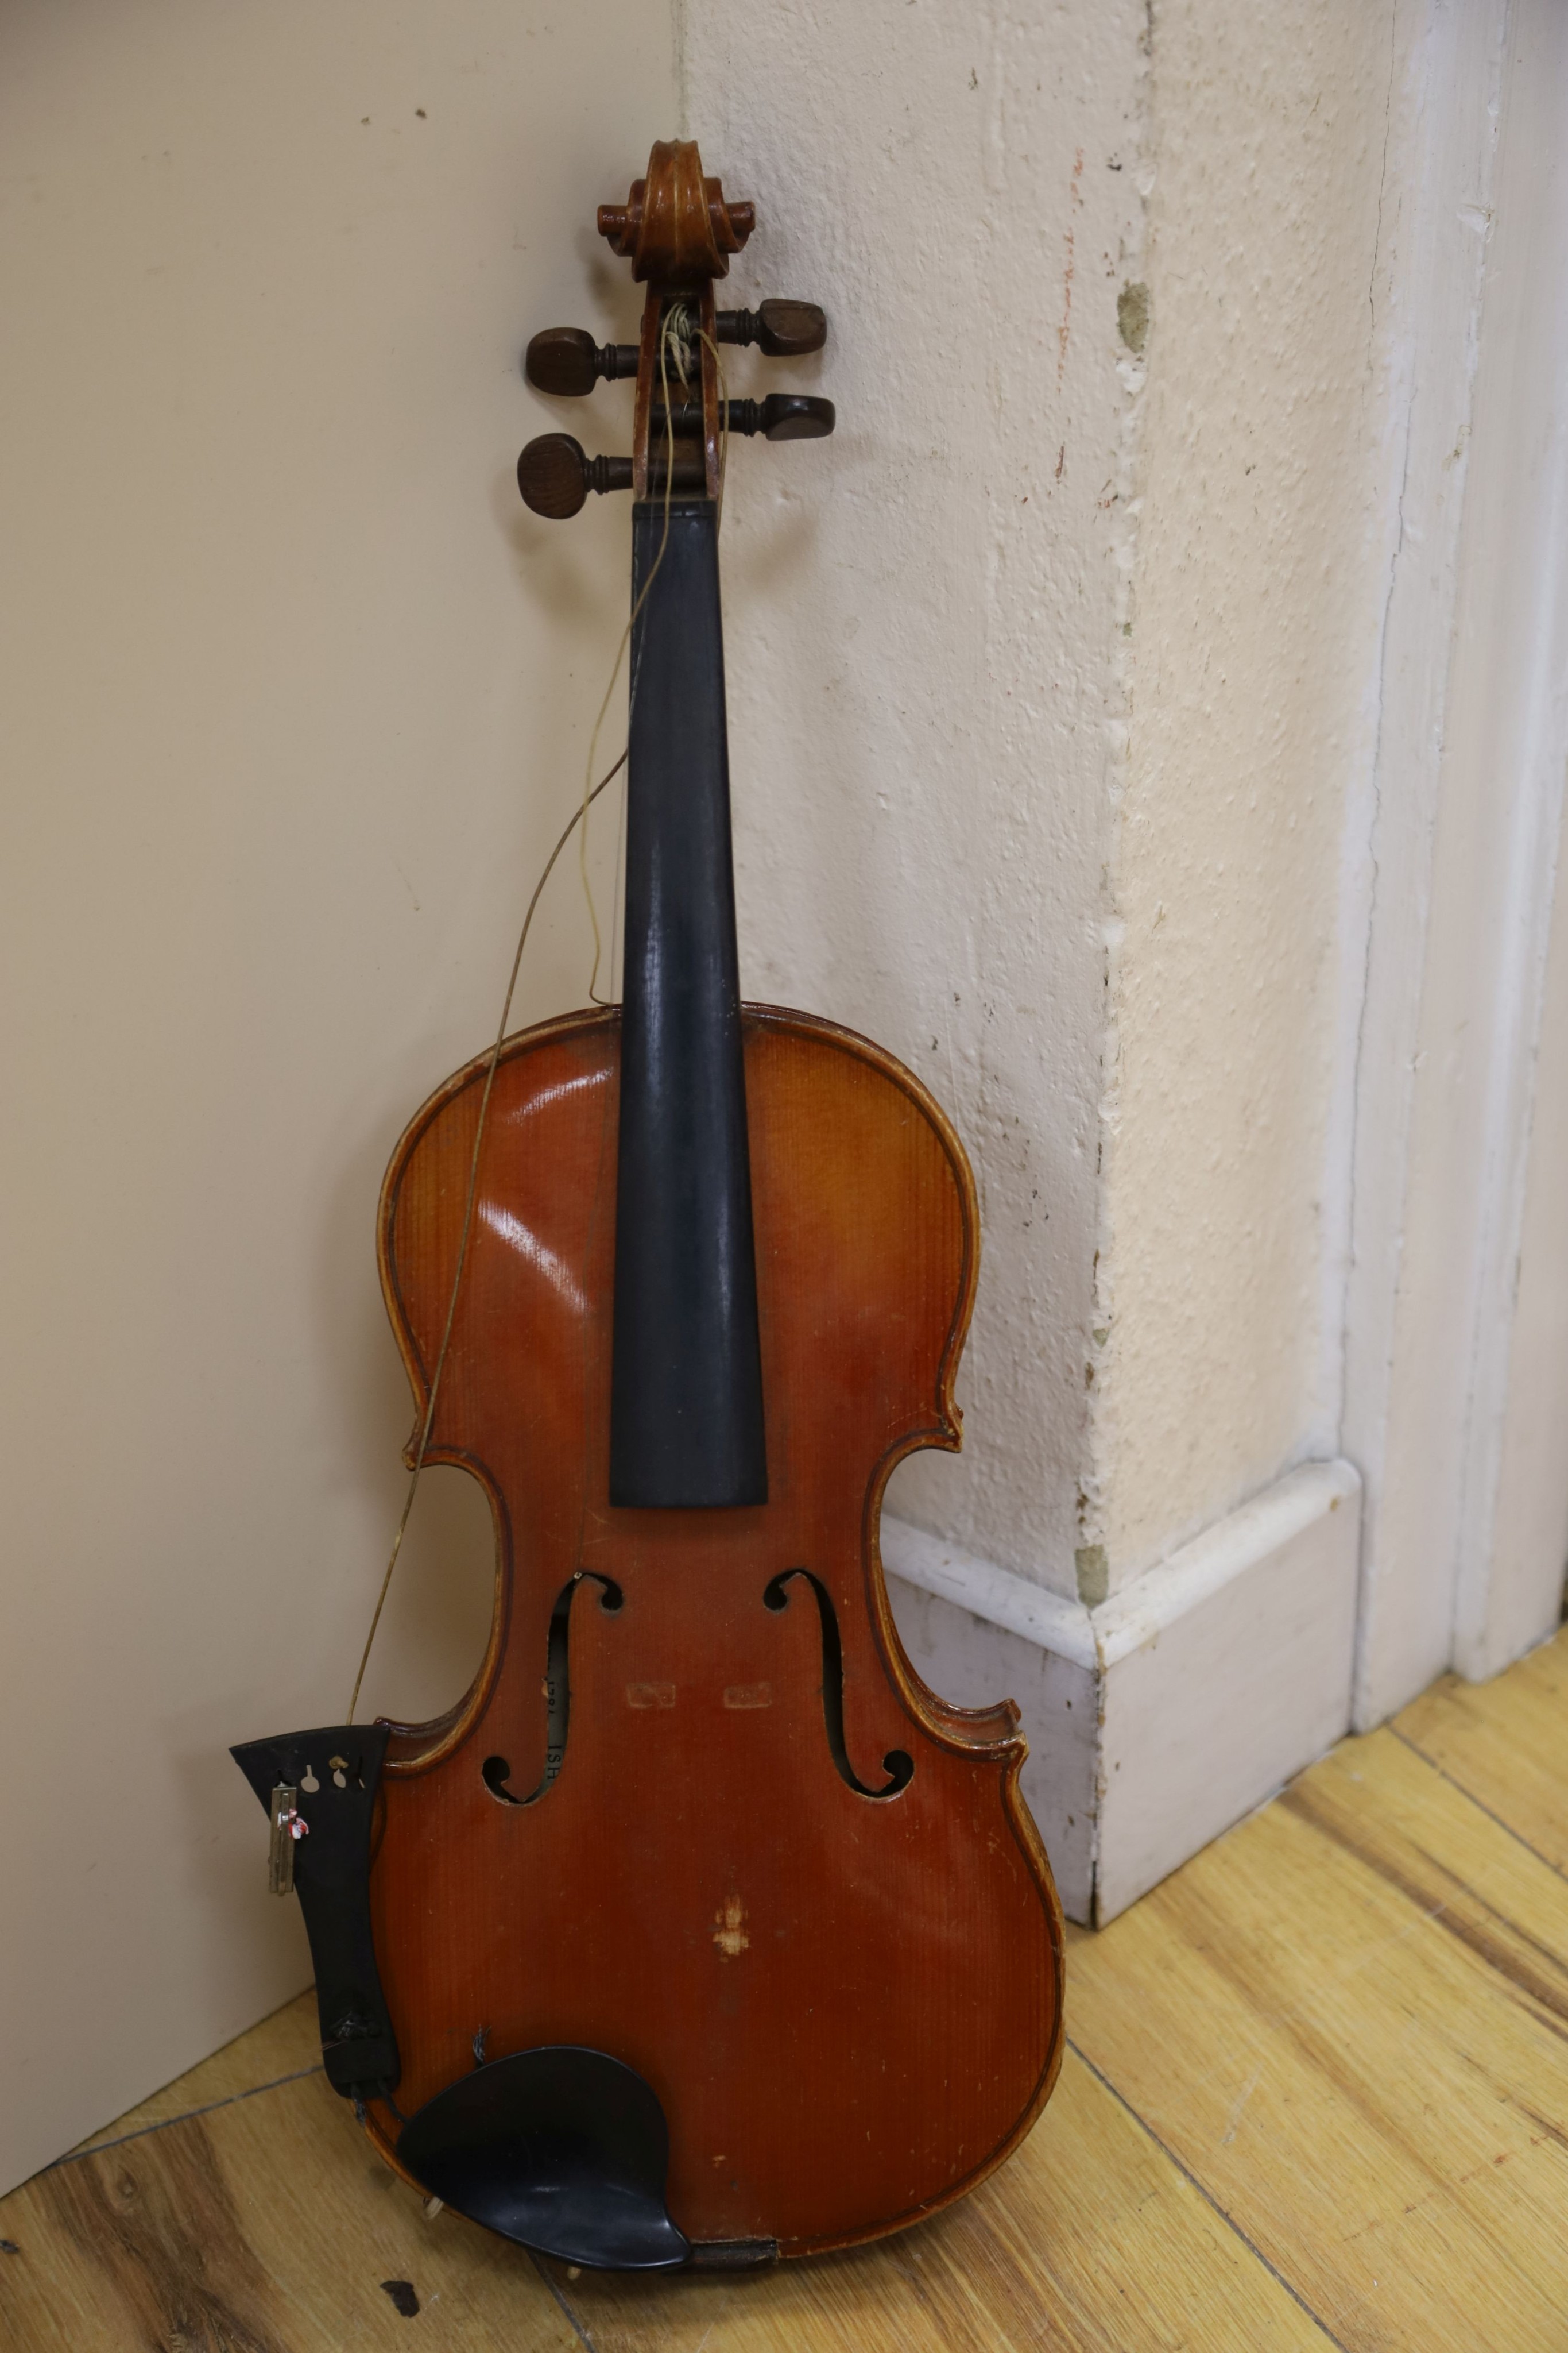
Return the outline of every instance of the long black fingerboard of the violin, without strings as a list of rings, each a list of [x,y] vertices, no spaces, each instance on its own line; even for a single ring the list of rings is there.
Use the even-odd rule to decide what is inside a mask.
[[[609,1501],[764,1504],[710,499],[632,511],[632,607]]]

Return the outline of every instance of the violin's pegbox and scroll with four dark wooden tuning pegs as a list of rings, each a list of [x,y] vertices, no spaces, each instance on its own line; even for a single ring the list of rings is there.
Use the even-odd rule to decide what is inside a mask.
[[[625,205],[599,207],[599,235],[632,261],[644,278],[644,245],[661,233],[658,195],[646,205],[646,181],[632,186]],[[804,358],[827,341],[827,318],[813,301],[764,301],[757,311],[715,311],[712,278],[724,275],[729,254],[752,233],[752,207],[726,205],[719,181],[686,195],[675,219],[677,280],[644,315],[639,344],[595,344],[583,327],[545,327],[529,341],[524,376],[538,393],[578,400],[595,384],[637,381],[632,456],[588,456],[571,433],[541,433],[517,459],[524,506],[555,522],[576,515],[588,492],[630,489],[639,499],[696,492],[717,496],[719,442],[731,435],[764,440],[820,440],[832,433],[832,400],[809,393],[769,393],[766,400],[722,400],[715,344],[755,344],[773,360]],[[670,233],[670,224],[663,226]],[[682,278],[691,278],[691,294]],[[672,313],[686,320],[672,325]],[[698,362],[701,384],[670,384],[668,344],[679,332],[682,351]],[[693,398],[696,393],[696,398]]]

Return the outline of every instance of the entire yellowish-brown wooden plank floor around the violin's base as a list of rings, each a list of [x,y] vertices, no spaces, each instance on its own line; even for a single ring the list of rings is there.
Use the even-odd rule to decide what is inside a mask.
[[[1566,1871],[1559,1638],[1074,1934],[1060,2087],[976,2198],[755,2278],[574,2275],[428,2219],[301,2000],[0,2202],[0,2344],[1563,2353]]]

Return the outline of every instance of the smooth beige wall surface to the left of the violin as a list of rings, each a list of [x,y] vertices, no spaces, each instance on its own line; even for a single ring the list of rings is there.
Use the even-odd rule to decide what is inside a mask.
[[[517,504],[517,351],[635,315],[592,207],[670,115],[642,0],[0,14],[0,2186],[308,1979],[223,1748],[348,1701],[381,1167],[625,614],[625,518]],[[527,1014],[583,939],[567,892]],[[454,1544],[371,1704],[461,1687]]]

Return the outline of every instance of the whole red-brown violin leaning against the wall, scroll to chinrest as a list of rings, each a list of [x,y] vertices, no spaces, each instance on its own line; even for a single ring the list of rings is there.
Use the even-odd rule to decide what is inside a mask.
[[[386,2162],[632,2271],[929,2217],[1063,2049],[1018,1711],[926,1689],[877,1551],[893,1466],[959,1445],[969,1160],[882,1047],[741,1002],[722,473],[733,435],[835,421],[724,393],[724,346],[825,339],[811,304],[715,308],[750,231],[658,144],[599,209],[639,344],[529,346],[559,398],[635,379],[630,459],[520,459],[541,515],[632,492],[623,1002],[449,1078],[378,1221],[414,1468],[461,1464],[494,1513],[484,1659],[433,1722],[235,1748]]]

